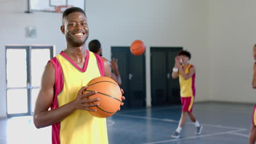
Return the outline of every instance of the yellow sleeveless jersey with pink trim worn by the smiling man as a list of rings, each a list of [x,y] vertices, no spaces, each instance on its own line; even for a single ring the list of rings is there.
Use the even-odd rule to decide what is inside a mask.
[[[104,63],[100,56],[86,50],[84,68],[61,52],[50,60],[55,68],[55,92],[51,109],[65,105],[77,97],[80,88],[98,76],[104,76]],[[86,110],[75,110],[52,127],[53,144],[95,143],[107,144],[106,118],[92,116]]]

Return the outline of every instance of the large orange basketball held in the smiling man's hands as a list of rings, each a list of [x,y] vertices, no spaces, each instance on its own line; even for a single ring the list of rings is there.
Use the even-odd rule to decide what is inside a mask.
[[[91,115],[99,118],[106,118],[118,111],[122,102],[122,92],[117,82],[106,76],[96,77],[88,83],[84,94],[95,91],[88,99],[100,98],[97,101],[100,105],[91,107],[97,111],[89,111]]]

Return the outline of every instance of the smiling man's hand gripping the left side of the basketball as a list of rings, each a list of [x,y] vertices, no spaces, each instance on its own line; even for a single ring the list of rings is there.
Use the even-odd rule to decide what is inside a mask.
[[[96,101],[99,101],[100,98],[88,99],[88,97],[96,94],[97,92],[89,92],[84,94],[87,87],[88,86],[82,87],[78,91],[77,98],[75,98],[72,103],[76,110],[97,111],[95,109],[91,109],[91,107],[100,105],[99,103],[95,103]]]

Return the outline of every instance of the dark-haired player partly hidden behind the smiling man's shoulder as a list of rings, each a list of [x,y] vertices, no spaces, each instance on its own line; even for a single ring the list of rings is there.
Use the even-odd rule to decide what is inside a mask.
[[[90,41],[89,50],[102,57],[101,43],[97,39]],[[106,64],[109,63],[109,61],[106,58],[102,57],[102,59],[104,62],[106,62]],[[110,62],[110,67],[113,70],[113,72],[111,72],[111,79],[113,79],[115,82],[118,83],[119,86],[121,86],[122,81],[118,71],[117,58],[112,58],[112,61]]]

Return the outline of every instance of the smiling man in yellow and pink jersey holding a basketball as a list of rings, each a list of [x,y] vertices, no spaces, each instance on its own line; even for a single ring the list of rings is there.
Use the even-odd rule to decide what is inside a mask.
[[[37,128],[52,125],[54,144],[108,144],[106,118],[89,113],[96,111],[91,107],[99,105],[100,99],[87,98],[97,92],[82,92],[95,77],[111,76],[109,64],[86,50],[89,29],[84,10],[66,9],[61,32],[66,38],[66,49],[45,66],[34,109],[34,125]]]

